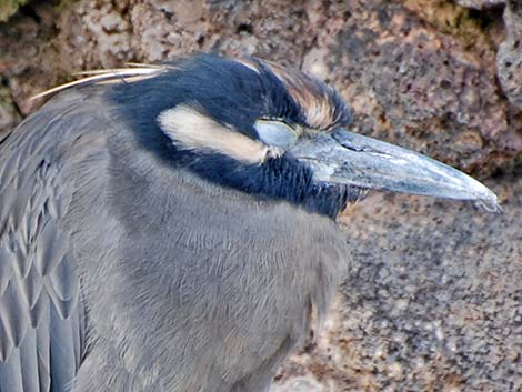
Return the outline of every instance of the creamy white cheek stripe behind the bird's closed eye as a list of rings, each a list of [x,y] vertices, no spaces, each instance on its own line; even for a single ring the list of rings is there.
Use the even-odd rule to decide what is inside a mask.
[[[158,117],[163,132],[180,148],[218,152],[245,163],[263,163],[273,157],[268,145],[221,125],[188,105],[164,110]]]

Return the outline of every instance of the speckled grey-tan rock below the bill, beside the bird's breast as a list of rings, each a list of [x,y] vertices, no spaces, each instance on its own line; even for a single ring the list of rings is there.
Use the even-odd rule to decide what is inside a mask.
[[[390,194],[349,209],[349,277],[325,330],[280,382],[310,379],[293,391],[521,391],[521,174],[488,182],[504,200],[501,215]]]

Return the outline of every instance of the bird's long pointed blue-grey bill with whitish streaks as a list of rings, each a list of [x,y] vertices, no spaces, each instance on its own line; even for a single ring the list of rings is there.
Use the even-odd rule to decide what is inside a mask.
[[[496,195],[479,181],[431,158],[338,129],[312,132],[290,152],[318,181],[364,189],[474,201],[499,211]]]

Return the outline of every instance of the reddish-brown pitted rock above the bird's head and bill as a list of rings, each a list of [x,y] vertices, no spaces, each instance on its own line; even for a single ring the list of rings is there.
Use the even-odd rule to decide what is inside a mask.
[[[357,131],[484,177],[522,151],[522,111],[511,98],[519,60],[499,60],[496,74],[502,31],[500,12],[430,0],[34,3],[0,26],[0,74],[28,114],[38,103],[31,94],[74,71],[193,51],[254,54],[332,83],[353,107]],[[506,42],[499,58],[520,50]]]

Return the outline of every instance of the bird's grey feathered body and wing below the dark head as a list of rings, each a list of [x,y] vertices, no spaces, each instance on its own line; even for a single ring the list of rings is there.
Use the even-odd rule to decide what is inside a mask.
[[[54,331],[56,341],[22,338],[33,346],[14,349],[9,359],[34,362],[20,366],[23,380],[39,385],[41,375],[50,375],[56,391],[66,391],[60,382],[76,373],[78,350],[92,342],[72,391],[257,390],[304,335],[311,312],[324,311],[349,255],[344,237],[329,218],[244,197],[172,170],[148,151],[132,152],[135,135],[117,125],[122,119],[103,91],[66,92],[39,112],[48,127],[34,127],[37,118],[30,118],[2,147],[2,161],[18,163],[2,172],[14,179],[2,192],[2,200],[14,193],[12,204],[2,205],[2,221],[41,215],[29,223],[31,235],[53,230],[61,237],[36,240],[31,260],[13,260],[36,270],[27,279],[16,271],[1,277],[19,296],[28,284],[43,284],[37,301],[51,295],[44,312],[52,320],[41,316],[20,333],[28,339],[67,324]],[[26,187],[59,205],[31,203]],[[162,215],[148,214],[158,205]],[[2,238],[26,247],[23,224],[12,223]],[[68,244],[64,257],[47,249],[59,241]],[[39,275],[40,263],[51,264],[49,278]],[[34,275],[41,282],[28,280]],[[57,305],[67,308],[64,318]],[[2,309],[2,321],[26,320],[8,304]],[[24,303],[12,309],[20,311],[30,316]],[[69,366],[53,366],[60,355]],[[12,374],[2,371],[2,392],[32,391],[6,388]]]

